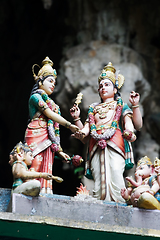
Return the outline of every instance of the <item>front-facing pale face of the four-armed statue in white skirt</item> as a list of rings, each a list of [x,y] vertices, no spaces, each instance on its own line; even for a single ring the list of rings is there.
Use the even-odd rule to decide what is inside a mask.
[[[114,94],[116,93],[116,89],[113,86],[113,83],[109,79],[103,79],[99,83],[99,95],[103,101],[114,98]]]

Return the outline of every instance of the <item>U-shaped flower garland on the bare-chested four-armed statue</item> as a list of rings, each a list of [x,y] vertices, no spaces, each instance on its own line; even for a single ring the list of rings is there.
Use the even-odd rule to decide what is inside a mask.
[[[119,119],[121,117],[122,108],[123,108],[122,98],[118,97],[116,114],[112,121],[111,127],[106,129],[104,133],[98,134],[96,124],[95,124],[95,119],[94,119],[94,106],[91,105],[89,107],[88,117],[89,117],[89,125],[90,125],[90,135],[92,138],[99,141],[98,145],[101,149],[106,147],[106,141],[103,141],[103,140],[110,139],[115,134],[116,129],[118,127]]]

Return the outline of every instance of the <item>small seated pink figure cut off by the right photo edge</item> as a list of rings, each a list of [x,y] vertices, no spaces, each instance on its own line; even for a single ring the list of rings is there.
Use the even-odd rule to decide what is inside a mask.
[[[151,160],[145,156],[137,163],[135,180],[126,177],[129,182],[128,188],[121,189],[121,195],[127,204],[134,207],[147,209],[159,209],[160,190],[160,166],[156,166],[157,159],[152,164]]]

